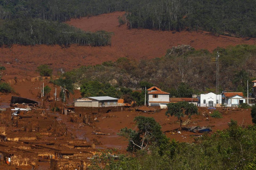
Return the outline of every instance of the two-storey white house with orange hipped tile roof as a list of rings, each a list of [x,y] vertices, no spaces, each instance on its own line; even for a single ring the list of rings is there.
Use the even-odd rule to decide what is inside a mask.
[[[167,108],[167,104],[170,103],[170,93],[164,92],[155,86],[147,89],[147,91],[149,95],[149,106]]]

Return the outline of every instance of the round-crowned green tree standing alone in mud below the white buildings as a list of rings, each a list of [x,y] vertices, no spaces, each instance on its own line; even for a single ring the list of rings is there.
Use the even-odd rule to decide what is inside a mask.
[[[186,101],[181,101],[177,103],[169,103],[167,104],[167,111],[165,113],[166,116],[175,116],[180,121],[179,130],[181,130],[182,126],[182,118],[185,116],[191,117],[193,114],[198,114],[197,106],[193,103],[188,103]]]

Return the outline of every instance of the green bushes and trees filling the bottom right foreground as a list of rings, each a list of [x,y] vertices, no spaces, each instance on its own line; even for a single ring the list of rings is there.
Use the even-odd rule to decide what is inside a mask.
[[[121,130],[122,136],[130,141],[127,149],[136,153],[112,156],[113,152],[104,151],[95,155],[88,169],[220,170],[256,167],[256,138],[252,137],[256,135],[256,125],[242,128],[236,121],[231,120],[228,129],[203,135],[197,138],[196,143],[179,143],[164,137],[159,125],[148,126],[151,122],[154,121],[137,121],[138,131],[128,128]],[[140,127],[141,124],[143,126]],[[140,134],[145,133],[147,135],[142,145],[144,136]],[[138,146],[133,146],[133,142]],[[140,147],[144,148],[146,145],[146,149],[141,150]]]

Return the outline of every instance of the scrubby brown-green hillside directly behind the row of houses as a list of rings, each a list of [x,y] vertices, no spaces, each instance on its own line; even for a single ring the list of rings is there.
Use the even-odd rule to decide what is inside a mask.
[[[66,78],[81,85],[90,80],[110,83],[115,87],[140,88],[145,81],[175,97],[191,97],[192,93],[215,92],[216,62],[219,52],[219,91],[247,90],[247,80],[256,77],[255,45],[218,48],[213,53],[191,47],[172,48],[164,57],[137,62],[128,58],[103,62],[96,66],[82,66],[64,73]],[[246,70],[246,71],[245,71]],[[184,88],[179,90],[179,88]],[[251,83],[249,84],[251,88]],[[178,91],[183,91],[180,94]],[[246,93],[247,94],[247,93]]]

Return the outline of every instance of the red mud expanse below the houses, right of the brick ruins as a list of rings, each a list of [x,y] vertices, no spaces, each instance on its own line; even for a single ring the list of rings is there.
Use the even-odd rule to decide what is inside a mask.
[[[209,120],[206,120],[206,114],[209,112],[206,108],[200,108],[200,115],[192,116],[190,118],[190,123],[183,126],[209,126],[212,128],[212,133],[217,130],[223,130],[228,128],[228,122],[230,119],[237,121],[240,126],[247,126],[252,124],[250,109],[241,111],[223,111],[219,108],[220,112],[223,113],[223,118],[211,118],[208,116]],[[91,126],[85,125],[83,127],[78,127],[78,123],[67,123],[67,127],[73,129],[72,132],[80,139],[86,138],[88,142],[95,142],[97,148],[119,148],[125,149],[128,142],[124,138],[117,135],[119,130],[124,127],[135,129],[135,123],[133,122],[135,116],[146,116],[153,117],[162,126],[162,131],[171,139],[175,139],[179,142],[193,142],[195,133],[189,131],[182,131],[181,134],[177,133],[179,128],[179,121],[175,117],[165,116],[166,109],[160,112],[143,113],[135,111],[123,111],[123,112],[113,112],[113,113],[103,113],[99,114],[97,121],[94,121]],[[203,116],[203,114],[205,116]],[[63,122],[68,122],[69,117],[63,115],[61,117]],[[186,121],[187,118],[184,118]],[[92,131],[100,131],[103,133],[109,133],[110,135],[94,135],[91,134]],[[174,132],[175,134],[172,134]],[[198,133],[201,135],[201,133]]]

